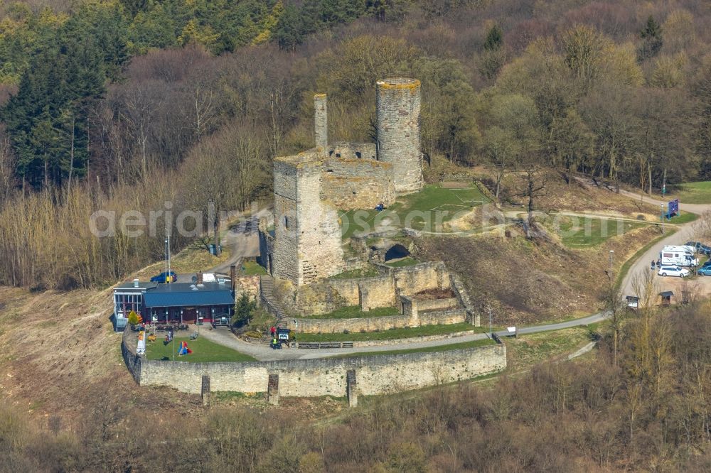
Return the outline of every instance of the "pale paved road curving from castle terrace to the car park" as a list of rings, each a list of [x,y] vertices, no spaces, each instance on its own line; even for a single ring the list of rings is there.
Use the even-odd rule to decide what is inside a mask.
[[[648,202],[652,205],[660,205],[661,201],[654,200],[650,197],[640,197],[637,194],[634,194],[633,192],[626,192],[624,190],[620,191],[621,194],[628,195],[631,198],[634,198],[635,200],[642,200],[643,202]],[[689,205],[689,204],[680,204],[681,210],[686,210],[688,212],[694,212],[697,214],[702,214],[707,211],[711,211],[711,205]],[[572,212],[570,212],[572,213]],[[602,216],[605,217],[605,216]],[[609,216],[607,216],[609,217]],[[634,264],[631,266],[629,272],[626,274],[624,280],[622,281],[621,284],[621,290],[624,295],[626,294],[631,294],[631,287],[632,287],[632,281],[634,280],[634,276],[636,276],[637,273],[640,271],[650,271],[649,270],[649,262],[652,259],[656,260],[656,256],[658,255],[659,248],[665,244],[677,244],[677,243],[683,243],[685,241],[688,241],[689,239],[695,239],[695,229],[694,229],[694,222],[691,222],[689,224],[685,224],[682,226],[674,226],[675,228],[678,229],[675,234],[670,235],[669,237],[666,237],[665,239],[662,239],[661,241],[658,241],[657,244],[655,244],[651,249],[645,252],[643,256],[641,256],[637,261],[634,262]],[[257,248],[257,251],[259,249]],[[245,255],[246,256],[246,255]],[[251,256],[251,255],[250,255]],[[235,260],[236,261],[236,260]],[[227,264],[229,268],[229,264]],[[536,333],[536,332],[547,332],[549,330],[562,330],[562,329],[567,329],[567,328],[572,328],[572,327],[578,327],[580,325],[589,325],[593,324],[596,322],[600,322],[604,320],[606,317],[606,312],[601,311],[597,312],[592,315],[588,315],[587,317],[582,317],[579,319],[574,319],[574,320],[566,320],[564,322],[557,322],[557,323],[552,323],[552,324],[545,324],[545,325],[534,325],[530,327],[519,327],[518,333],[519,334],[530,334],[530,333]],[[500,331],[496,332],[496,335],[499,335],[500,337],[506,337],[507,335],[510,335],[507,331]],[[346,349],[314,349],[314,350],[306,350],[306,349],[279,349],[279,350],[274,350],[269,348],[267,345],[257,345],[257,344],[251,344],[247,342],[243,342],[240,339],[237,339],[234,335],[232,335],[232,332],[229,330],[204,330],[201,331],[201,336],[204,336],[207,339],[210,339],[211,341],[215,343],[219,343],[222,345],[225,345],[225,347],[230,347],[232,349],[236,349],[239,352],[242,352],[244,354],[248,354],[251,357],[254,357],[256,359],[262,360],[262,361],[272,361],[272,360],[277,360],[277,359],[313,359],[313,358],[324,358],[324,357],[333,357],[335,355],[339,354],[347,354],[347,353],[363,353],[363,352],[383,352],[383,351],[389,351],[389,350],[398,350],[398,349],[419,349],[419,348],[426,348],[426,347],[440,347],[443,345],[448,345],[448,344],[453,344],[453,343],[461,343],[461,342],[471,342],[474,340],[479,340],[479,339],[484,339],[487,337],[486,334],[474,334],[474,335],[464,335],[462,337],[452,337],[452,338],[446,338],[446,339],[437,339],[437,340],[429,340],[427,342],[412,342],[412,343],[407,343],[407,344],[387,344],[387,345],[381,345],[378,347],[353,347],[353,348],[346,348]]]

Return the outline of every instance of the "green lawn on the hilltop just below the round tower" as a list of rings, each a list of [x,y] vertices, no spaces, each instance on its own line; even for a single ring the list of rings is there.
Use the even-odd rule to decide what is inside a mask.
[[[438,224],[449,222],[457,212],[469,212],[471,207],[486,202],[489,200],[476,186],[444,189],[439,185],[425,185],[420,192],[400,197],[383,212],[341,212],[341,229],[344,239],[353,234],[379,231],[386,227],[407,227],[434,232]]]

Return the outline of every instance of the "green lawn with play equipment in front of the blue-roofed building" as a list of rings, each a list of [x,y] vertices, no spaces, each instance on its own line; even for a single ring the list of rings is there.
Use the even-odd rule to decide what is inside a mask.
[[[188,348],[193,350],[189,355],[178,357],[180,342],[188,342]],[[257,361],[235,350],[210,342],[205,338],[191,340],[189,337],[175,337],[173,342],[164,345],[163,338],[155,342],[146,343],[146,359],[172,360],[173,344],[175,344],[176,361],[190,361],[191,363],[206,363],[210,361]]]

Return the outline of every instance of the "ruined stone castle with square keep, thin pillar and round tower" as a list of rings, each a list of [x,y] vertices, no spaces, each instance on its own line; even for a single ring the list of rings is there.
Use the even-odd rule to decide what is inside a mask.
[[[338,211],[422,189],[419,80],[376,82],[375,107],[375,143],[329,143],[326,94],[316,94],[316,146],[274,159],[274,229],[260,221],[260,262],[275,278],[301,286],[343,272]]]

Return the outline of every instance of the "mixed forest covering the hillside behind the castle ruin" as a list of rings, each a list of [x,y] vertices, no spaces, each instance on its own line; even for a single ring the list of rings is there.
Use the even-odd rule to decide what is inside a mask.
[[[274,156],[369,141],[375,80],[422,80],[432,161],[657,192],[711,177],[703,1],[0,4],[0,284],[92,288],[160,259],[97,210],[242,210]],[[497,196],[498,197],[498,196]],[[189,239],[176,236],[176,249]]]

